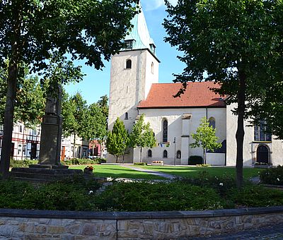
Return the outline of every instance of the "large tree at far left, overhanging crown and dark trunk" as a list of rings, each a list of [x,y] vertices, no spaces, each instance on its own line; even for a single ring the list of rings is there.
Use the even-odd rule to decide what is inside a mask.
[[[125,43],[135,0],[4,0],[0,3],[0,58],[8,61],[0,172],[8,176],[18,64],[40,71],[57,52],[103,67]],[[35,24],[36,23],[36,24]],[[5,67],[5,66],[3,66]]]

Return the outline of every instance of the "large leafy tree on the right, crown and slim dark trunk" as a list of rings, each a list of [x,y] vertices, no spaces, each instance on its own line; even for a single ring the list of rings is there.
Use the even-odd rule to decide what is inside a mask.
[[[186,64],[175,81],[214,80],[238,107],[236,131],[236,179],[243,184],[244,117],[247,106],[260,97],[282,72],[282,1],[221,0],[183,1],[172,6],[166,0],[168,18],[163,25],[166,42],[183,52]],[[280,61],[281,59],[281,61]],[[280,65],[281,63],[281,65]],[[282,76],[282,74],[281,74]],[[282,80],[282,78],[281,78]],[[247,105],[246,105],[247,104]]]

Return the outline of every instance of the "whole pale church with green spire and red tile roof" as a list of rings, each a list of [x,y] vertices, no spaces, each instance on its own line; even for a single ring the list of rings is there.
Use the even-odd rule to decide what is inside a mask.
[[[190,148],[190,143],[194,142],[191,134],[205,116],[216,128],[216,136],[222,143],[221,149],[206,152],[207,164],[236,165],[237,116],[231,112],[236,105],[226,105],[221,96],[209,90],[215,88],[213,82],[188,83],[181,97],[173,97],[182,85],[158,83],[160,61],[143,11],[132,19],[132,25],[134,28],[125,38],[127,47],[112,56],[109,129],[112,130],[119,117],[130,133],[139,116],[144,114],[157,144],[155,148],[143,149],[142,162],[162,160],[164,164],[187,165],[190,156],[204,157],[202,148]],[[283,164],[282,140],[265,133],[260,126],[245,124],[244,166],[252,167],[255,162]],[[108,162],[115,162],[115,157],[108,154]],[[125,162],[139,162],[139,149],[129,150]]]

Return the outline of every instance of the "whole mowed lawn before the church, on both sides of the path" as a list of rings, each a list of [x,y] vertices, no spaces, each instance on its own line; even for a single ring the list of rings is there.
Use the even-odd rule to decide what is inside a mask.
[[[201,172],[208,172],[212,176],[235,176],[235,167],[174,167],[174,166],[136,166],[135,168],[150,169],[157,172],[164,172],[176,176],[192,177],[197,176]],[[86,165],[71,166],[71,169],[84,169]],[[95,176],[112,177],[112,178],[128,178],[128,179],[163,179],[160,176],[139,172],[127,167],[122,167],[117,164],[97,164],[93,165]],[[262,169],[244,168],[243,176],[248,179],[253,176],[258,176]]]

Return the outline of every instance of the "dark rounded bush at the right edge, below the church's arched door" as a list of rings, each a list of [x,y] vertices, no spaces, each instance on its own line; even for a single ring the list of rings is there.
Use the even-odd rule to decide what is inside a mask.
[[[260,172],[260,182],[262,184],[283,186],[283,166],[262,170]]]

